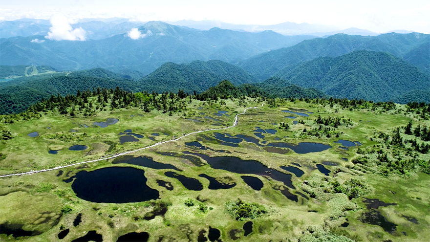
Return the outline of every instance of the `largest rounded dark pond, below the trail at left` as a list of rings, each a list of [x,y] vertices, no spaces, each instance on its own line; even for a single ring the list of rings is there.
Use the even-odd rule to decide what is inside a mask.
[[[76,196],[91,202],[141,202],[159,197],[158,191],[146,184],[145,171],[140,169],[108,167],[81,171],[74,177],[72,189]]]

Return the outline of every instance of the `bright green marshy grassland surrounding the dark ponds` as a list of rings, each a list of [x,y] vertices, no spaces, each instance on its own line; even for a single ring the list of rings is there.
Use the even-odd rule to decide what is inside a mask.
[[[3,124],[14,137],[0,141],[0,152],[5,154],[5,158],[0,160],[0,175],[94,160],[108,154],[135,150],[158,141],[170,140],[173,137],[182,136],[184,133],[231,126],[237,113],[241,113],[246,107],[259,106],[258,109],[250,109],[246,114],[239,115],[236,127],[189,135],[178,141],[132,153],[133,156],[146,155],[157,162],[176,166],[182,170],[182,172],[177,172],[178,174],[198,179],[203,184],[201,191],[188,190],[177,179],[164,175],[166,171],[171,170],[112,164],[113,159],[108,159],[61,169],[63,171],[61,175],[59,175],[59,170],[56,170],[0,178],[0,224],[6,222],[21,224],[23,230],[43,232],[37,236],[18,238],[40,242],[57,241],[57,234],[64,228],[70,229],[70,233],[62,240],[67,242],[84,236],[90,230],[96,230],[107,242],[114,242],[119,236],[130,232],[148,232],[151,242],[197,241],[199,231],[203,229],[208,231],[209,226],[220,230],[220,240],[225,242],[234,241],[235,238],[238,238],[235,241],[266,242],[409,242],[426,241],[429,238],[429,174],[422,172],[418,165],[414,169],[409,169],[407,175],[399,175],[395,172],[380,173],[378,166],[371,166],[370,163],[363,165],[352,162],[354,158],[361,155],[357,154],[358,148],[366,150],[382,143],[380,139],[375,138],[380,132],[392,133],[393,129],[405,126],[411,120],[413,127],[418,124],[430,126],[428,120],[422,119],[418,114],[408,112],[405,105],[395,105],[395,108],[391,110],[382,108],[357,110],[343,109],[337,104],[330,107],[299,100],[278,100],[275,105],[269,104],[261,98],[246,98],[244,102],[243,100],[238,102],[238,99],[228,99],[223,102],[225,104],[193,99],[191,103],[187,103],[186,110],[171,115],[157,110],[144,112],[139,108],[104,110],[98,111],[92,116],[77,115],[75,117],[52,111],[42,113],[42,117],[37,119]],[[262,103],[266,104],[261,107]],[[281,110],[287,109],[303,109],[313,112],[313,114],[309,114],[309,117],[302,117],[281,112]],[[229,111],[230,117],[214,116],[213,113],[216,113],[217,110]],[[200,114],[200,112],[205,114]],[[143,114],[143,116],[137,114]],[[303,129],[319,128],[320,125],[314,123],[318,115],[323,118],[345,117],[351,120],[352,125],[338,127],[336,131],[342,132],[339,137],[303,135]],[[205,116],[211,116],[221,122],[206,119]],[[288,119],[285,116],[296,116],[297,118]],[[92,126],[93,122],[106,121],[108,118],[117,118],[119,121],[107,128]],[[194,122],[187,118],[203,122]],[[300,122],[293,125],[293,121]],[[288,123],[290,129],[287,131],[280,129],[278,124],[281,122]],[[221,125],[218,125],[219,123]],[[80,126],[83,124],[89,127]],[[268,152],[263,147],[245,141],[239,143],[238,147],[230,147],[221,145],[216,140],[205,138],[207,136],[214,138],[214,132],[255,137],[253,132],[255,127],[277,130],[275,134],[264,134],[267,143],[319,142],[329,144],[332,148],[317,153],[296,154],[289,151],[285,154],[278,154]],[[70,132],[72,129],[79,131]],[[126,142],[121,145],[118,133],[127,129],[145,137],[140,138],[138,142]],[[403,128],[401,129],[401,136],[405,139],[408,138],[409,136],[403,133]],[[27,134],[30,132],[39,132],[39,136],[29,137]],[[151,135],[154,132],[160,135]],[[155,140],[149,139],[149,136]],[[276,137],[280,140],[275,139]],[[359,141],[363,145],[342,150],[339,148],[341,144],[334,143],[338,139]],[[210,149],[198,150],[196,147],[185,145],[185,142],[197,140]],[[86,145],[88,148],[85,151],[69,151],[68,148],[75,144]],[[261,139],[259,144],[262,144]],[[394,150],[393,145],[384,147],[387,150]],[[60,151],[58,154],[49,154],[50,149]],[[230,153],[217,153],[215,152],[217,150]],[[293,185],[296,187],[293,190],[270,176],[250,174],[249,176],[259,177],[264,184],[260,191],[255,191],[241,179],[242,174],[211,168],[203,159],[201,160],[205,165],[198,167],[187,164],[178,157],[160,154],[161,152],[182,153],[183,151],[209,156],[236,156],[243,160],[257,160],[267,167],[286,174],[290,173],[280,169],[280,166],[299,163],[304,175],[292,176]],[[391,153],[389,154],[391,155]],[[347,158],[348,161],[341,158]],[[427,160],[428,163],[429,154],[416,154],[416,159]],[[339,163],[337,166],[325,166],[331,171],[330,176],[324,176],[316,169],[316,164],[321,164],[323,161]],[[94,171],[112,166],[145,170],[148,186],[158,190],[160,198],[137,203],[94,203],[76,197],[71,188],[72,183],[63,182],[64,179],[83,170]],[[199,177],[200,174],[215,177],[219,181],[235,182],[237,185],[226,190],[210,190],[208,189],[209,180]],[[157,179],[171,182],[174,189],[169,191],[159,186],[156,182]],[[350,179],[359,180],[366,187],[360,196],[349,199],[345,192],[333,192],[335,189],[333,181],[344,183]],[[290,193],[298,195],[298,201],[287,199],[274,187],[288,189]],[[310,191],[314,191],[314,196]],[[308,199],[301,197],[297,192],[306,195]],[[236,220],[226,210],[226,202],[237,198],[245,202],[261,204],[266,208],[267,213],[255,219]],[[388,233],[381,226],[361,221],[363,214],[370,211],[366,208],[364,198],[396,203],[396,205],[376,209],[389,222],[397,224],[395,232]],[[188,199],[191,199],[195,205],[186,206],[185,202]],[[200,204],[207,206],[207,211],[202,212],[199,209]],[[168,208],[164,216],[155,216],[151,220],[144,219],[159,211],[163,206]],[[70,208],[71,211],[69,211]],[[78,214],[82,214],[82,222],[78,226],[73,226],[73,221]],[[403,216],[415,218],[417,223],[411,222]],[[253,232],[244,237],[242,226],[247,221],[253,221]],[[344,222],[349,223],[348,227],[340,226]],[[407,236],[402,232],[405,232]],[[17,238],[12,235],[0,235],[0,241],[14,241],[15,239]]]

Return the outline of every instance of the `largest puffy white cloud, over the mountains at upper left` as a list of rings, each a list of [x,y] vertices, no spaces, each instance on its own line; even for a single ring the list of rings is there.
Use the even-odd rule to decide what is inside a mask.
[[[86,31],[82,28],[73,29],[70,25],[73,23],[64,15],[56,15],[50,20],[52,27],[49,28],[50,32],[45,36],[49,40],[70,40],[70,41],[85,41]]]

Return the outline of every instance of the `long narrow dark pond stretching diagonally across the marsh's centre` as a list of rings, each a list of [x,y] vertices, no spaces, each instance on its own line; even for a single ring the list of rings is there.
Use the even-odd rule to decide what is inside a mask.
[[[190,152],[184,152],[185,154],[194,154]],[[219,170],[225,170],[229,172],[234,172],[238,174],[255,174],[259,176],[270,176],[273,179],[283,182],[288,187],[295,189],[291,182],[291,175],[281,173],[277,170],[269,170],[267,166],[261,164],[256,160],[242,160],[239,157],[234,156],[217,156],[209,157],[205,154],[194,154],[197,155],[208,162],[208,164]],[[268,173],[265,173],[268,172]]]

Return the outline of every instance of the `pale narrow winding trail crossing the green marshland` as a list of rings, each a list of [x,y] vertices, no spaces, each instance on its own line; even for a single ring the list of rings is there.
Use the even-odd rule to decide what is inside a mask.
[[[262,103],[262,104],[261,104],[261,107],[263,107],[263,105],[264,105],[264,103]],[[258,106],[258,107],[259,107],[259,106]],[[201,133],[201,132],[207,132],[207,131],[215,131],[215,130],[226,130],[226,129],[230,129],[230,128],[233,128],[233,127],[237,126],[237,121],[238,121],[238,119],[239,119],[239,115],[245,114],[245,113],[246,113],[246,110],[249,110],[249,109],[257,109],[258,107],[246,108],[245,110],[243,110],[243,112],[242,112],[242,113],[237,113],[237,114],[236,114],[236,116],[235,116],[235,123],[234,123],[232,126],[228,126],[228,127],[225,127],[225,128],[219,128],[219,129],[208,129],[208,130],[202,130],[202,131],[191,132],[191,133],[187,133],[187,134],[185,134],[185,135],[183,135],[183,136],[180,136],[180,137],[179,137],[179,138],[177,138],[177,139],[171,139],[171,140],[166,140],[166,141],[158,142],[158,143],[155,143],[155,144],[150,145],[150,146],[146,146],[146,147],[143,147],[143,148],[139,148],[139,149],[137,149],[137,150],[127,151],[127,152],[123,152],[123,153],[120,153],[120,154],[108,155],[108,156],[105,156],[105,157],[103,157],[103,158],[96,159],[96,160],[88,160],[88,161],[83,161],[83,162],[79,162],[79,163],[75,163],[75,164],[70,164],[70,165],[65,165],[65,166],[57,166],[57,167],[55,167],[55,168],[51,168],[51,169],[43,169],[43,170],[40,170],[40,171],[30,171],[30,172],[24,172],[24,173],[17,173],[17,174],[2,175],[2,176],[0,176],[0,178],[1,178],[1,177],[7,177],[7,176],[31,175],[31,174],[33,174],[33,173],[40,173],[40,172],[54,171],[54,170],[63,169],[63,168],[70,167],[70,166],[76,166],[76,165],[81,165],[81,164],[90,163],[90,162],[96,162],[96,161],[101,161],[101,160],[112,159],[112,158],[116,158],[116,157],[119,157],[119,156],[122,156],[122,155],[131,154],[131,153],[134,153],[134,152],[137,152],[137,151],[141,151],[141,150],[149,149],[149,148],[152,148],[152,147],[155,147],[155,146],[158,146],[158,145],[162,145],[162,144],[165,144],[165,143],[168,143],[168,142],[178,141],[178,140],[180,140],[180,139],[182,139],[182,138],[184,138],[184,137],[187,137],[187,136],[192,135],[192,134],[195,134],[195,133]]]

